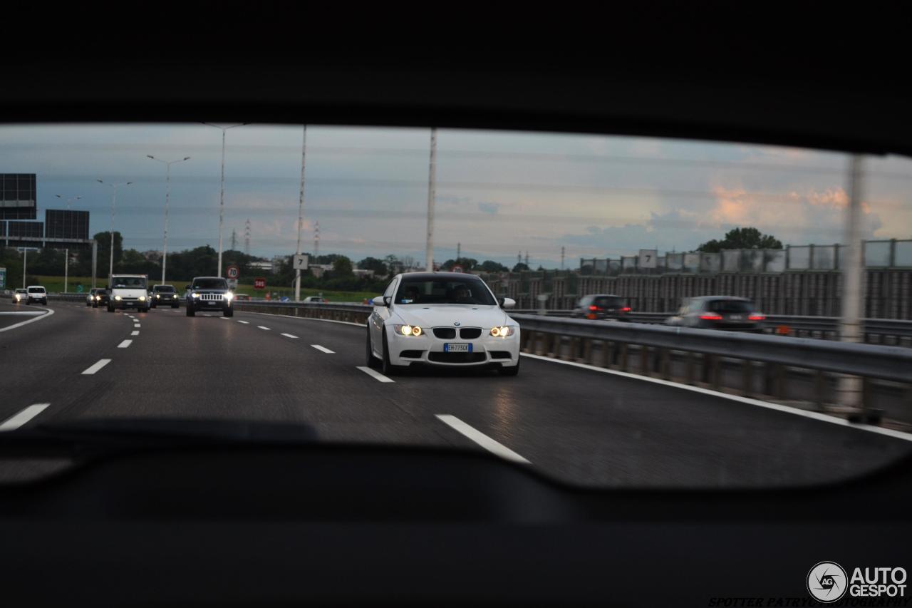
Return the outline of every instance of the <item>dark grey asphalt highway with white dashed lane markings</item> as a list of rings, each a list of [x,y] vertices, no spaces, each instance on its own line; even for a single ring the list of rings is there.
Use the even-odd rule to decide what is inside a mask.
[[[54,314],[0,331],[0,428],[112,417],[306,424],[330,442],[490,449],[597,486],[825,483],[912,451],[903,437],[529,356],[515,378],[385,379],[359,369],[365,329],[340,322],[33,308]]]

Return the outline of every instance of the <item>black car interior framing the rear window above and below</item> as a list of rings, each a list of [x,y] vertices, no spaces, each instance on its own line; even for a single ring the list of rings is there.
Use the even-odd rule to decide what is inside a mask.
[[[316,13],[147,8],[141,33],[97,26],[71,44],[61,24],[9,43],[0,121],[432,124],[912,153],[912,80],[887,65],[906,57],[889,44],[906,39],[895,17],[871,47],[855,16],[831,27],[708,4],[616,16],[563,55],[550,29],[494,50],[453,44],[473,27],[430,39],[416,24],[400,52],[349,40],[349,17],[302,47]],[[0,458],[53,471],[0,484],[2,601],[706,606],[806,601],[822,560],[908,567],[908,461],[816,487],[596,490],[477,452],[279,435],[0,437]]]

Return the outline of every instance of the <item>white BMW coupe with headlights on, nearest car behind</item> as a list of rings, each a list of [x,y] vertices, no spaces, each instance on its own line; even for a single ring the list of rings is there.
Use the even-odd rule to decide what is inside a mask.
[[[456,272],[397,275],[373,299],[368,366],[396,373],[411,365],[492,367],[519,373],[519,323],[481,278]]]

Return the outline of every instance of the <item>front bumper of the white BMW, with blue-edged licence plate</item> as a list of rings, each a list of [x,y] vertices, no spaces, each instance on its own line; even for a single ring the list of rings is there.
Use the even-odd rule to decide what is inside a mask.
[[[464,338],[444,340],[434,336],[432,330],[427,330],[418,337],[403,336],[391,328],[385,328],[385,330],[389,344],[389,362],[393,365],[513,367],[519,364],[519,328],[514,330],[512,336],[506,338],[494,338],[488,335],[487,330],[482,330],[482,336],[473,340]],[[472,344],[472,353],[445,352],[443,345],[452,343]]]

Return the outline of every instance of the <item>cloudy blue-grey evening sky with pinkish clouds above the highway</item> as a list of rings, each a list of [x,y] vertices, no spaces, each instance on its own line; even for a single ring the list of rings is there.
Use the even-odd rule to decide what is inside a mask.
[[[227,132],[224,242],[232,230],[251,253],[294,253],[301,167],[300,126],[246,125]],[[218,245],[222,132],[175,126],[0,127],[0,173],[37,173],[39,218],[81,195],[91,232],[110,226],[125,246],[161,249],[166,160],[171,167],[169,249]],[[424,258],[430,131],[310,127],[302,250],[356,261]],[[465,256],[567,267],[579,257],[640,248],[686,251],[735,226],[753,225],[792,245],[843,240],[844,154],[769,146],[628,137],[438,132],[435,259]],[[867,162],[865,236],[912,237],[912,162]]]

